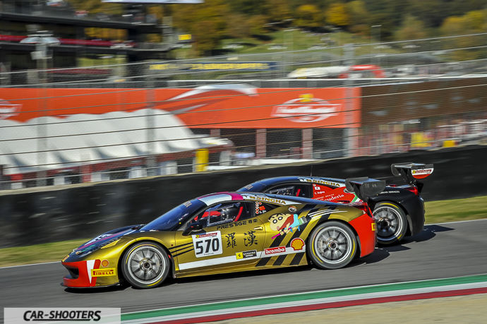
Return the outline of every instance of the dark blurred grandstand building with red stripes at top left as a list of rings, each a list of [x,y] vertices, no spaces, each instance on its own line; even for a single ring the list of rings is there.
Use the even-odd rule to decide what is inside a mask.
[[[126,56],[126,61],[166,59],[169,45],[147,42],[147,35],[161,34],[162,25],[143,13],[123,16],[88,16],[66,3],[49,6],[49,1],[5,0],[0,4],[0,61],[2,72],[36,68],[31,57],[35,44],[20,44],[32,30],[49,30],[61,44],[50,47],[50,68],[77,66],[80,57]],[[85,28],[126,30],[127,40],[90,39]],[[18,80],[27,83],[26,80]]]

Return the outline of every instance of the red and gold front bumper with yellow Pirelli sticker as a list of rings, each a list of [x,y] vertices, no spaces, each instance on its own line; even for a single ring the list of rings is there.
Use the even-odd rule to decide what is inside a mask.
[[[84,260],[63,262],[69,272],[63,278],[64,287],[105,287],[119,283],[116,260]]]

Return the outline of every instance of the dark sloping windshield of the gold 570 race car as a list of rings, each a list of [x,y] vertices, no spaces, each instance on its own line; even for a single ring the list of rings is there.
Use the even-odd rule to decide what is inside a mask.
[[[169,210],[169,212],[166,212],[164,215],[157,217],[155,220],[142,227],[140,232],[169,231],[179,224],[179,222],[182,222],[186,216],[193,214],[193,212],[196,212],[196,210],[205,206],[205,203],[198,199],[186,201],[186,203]]]

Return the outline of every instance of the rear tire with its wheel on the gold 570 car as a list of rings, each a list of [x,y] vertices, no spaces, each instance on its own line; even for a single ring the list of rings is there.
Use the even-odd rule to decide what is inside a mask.
[[[339,269],[354,259],[355,234],[347,224],[329,221],[319,224],[308,239],[308,257],[322,269]]]

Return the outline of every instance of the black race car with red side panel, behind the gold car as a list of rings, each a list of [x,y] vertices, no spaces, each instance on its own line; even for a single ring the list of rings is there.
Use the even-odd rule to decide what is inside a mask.
[[[393,244],[404,236],[416,235],[424,227],[424,201],[420,193],[423,183],[418,179],[433,173],[433,164],[392,164],[392,174],[402,176],[405,186],[389,185],[378,195],[368,198],[377,223],[379,244]],[[318,176],[279,176],[248,184],[239,191],[299,196],[337,203],[353,203],[361,199],[344,179]]]

